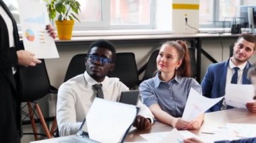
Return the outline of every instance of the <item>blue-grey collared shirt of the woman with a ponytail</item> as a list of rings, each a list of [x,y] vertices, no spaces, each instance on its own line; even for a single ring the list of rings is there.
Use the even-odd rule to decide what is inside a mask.
[[[161,81],[158,76],[159,73],[156,77],[143,81],[139,85],[143,103],[148,107],[158,104],[163,111],[173,117],[182,117],[190,89],[193,88],[201,94],[201,86],[190,77],[176,76],[165,82]]]

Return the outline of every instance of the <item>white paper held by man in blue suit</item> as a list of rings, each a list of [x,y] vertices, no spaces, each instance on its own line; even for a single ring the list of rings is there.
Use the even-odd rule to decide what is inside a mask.
[[[238,108],[246,108],[248,102],[255,102],[253,85],[226,85],[225,101],[226,105]]]

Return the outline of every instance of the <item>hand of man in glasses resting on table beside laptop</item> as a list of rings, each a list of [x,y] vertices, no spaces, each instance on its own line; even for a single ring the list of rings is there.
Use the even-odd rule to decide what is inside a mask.
[[[133,126],[139,130],[144,130],[151,128],[152,124],[148,118],[137,115],[135,121],[133,122]]]

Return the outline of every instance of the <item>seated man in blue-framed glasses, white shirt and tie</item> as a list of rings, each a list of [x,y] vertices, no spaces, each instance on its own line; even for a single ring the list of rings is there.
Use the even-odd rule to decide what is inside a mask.
[[[86,58],[86,71],[59,87],[57,123],[59,135],[76,134],[95,97],[119,101],[121,92],[129,91],[118,78],[106,77],[115,68],[116,50],[111,42],[92,42]],[[148,129],[153,123],[150,109],[138,102],[139,115],[133,124],[139,130]],[[104,120],[104,119],[102,119]]]

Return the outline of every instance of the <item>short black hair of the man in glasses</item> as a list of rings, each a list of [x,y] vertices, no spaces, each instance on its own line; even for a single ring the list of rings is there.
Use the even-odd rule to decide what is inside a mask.
[[[92,48],[98,47],[98,48],[106,48],[112,52],[112,62],[115,63],[116,59],[116,49],[115,46],[112,42],[108,40],[96,40],[90,44],[89,49],[88,49],[88,54],[91,52]]]

